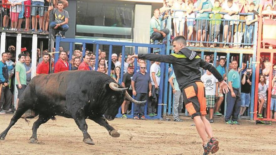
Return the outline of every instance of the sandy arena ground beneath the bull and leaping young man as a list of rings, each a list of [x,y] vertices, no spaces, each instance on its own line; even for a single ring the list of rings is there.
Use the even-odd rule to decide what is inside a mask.
[[[0,131],[9,124],[11,114],[0,115]],[[190,155],[202,154],[201,139],[193,121],[184,117],[184,122],[157,120],[109,121],[119,131],[119,138],[110,137],[104,127],[87,120],[88,132],[96,145],[82,142],[82,132],[72,119],[56,117],[38,129],[38,144],[30,144],[32,135],[31,120],[28,126],[23,119],[11,128],[4,141],[0,141],[0,154],[152,154],[152,155]],[[218,120],[219,119],[219,120]],[[212,124],[215,137],[220,141],[220,150],[216,154],[275,154],[276,128],[255,125],[254,121],[241,120],[241,125],[226,125],[217,118]]]

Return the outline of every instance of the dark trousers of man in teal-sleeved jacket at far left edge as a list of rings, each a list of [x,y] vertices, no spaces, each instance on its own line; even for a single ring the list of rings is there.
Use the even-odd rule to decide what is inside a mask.
[[[2,87],[2,94],[1,94],[1,99],[0,99],[0,111],[3,110],[9,110],[10,106],[12,103],[12,93],[9,88],[9,86]],[[2,107],[3,105],[3,107]]]

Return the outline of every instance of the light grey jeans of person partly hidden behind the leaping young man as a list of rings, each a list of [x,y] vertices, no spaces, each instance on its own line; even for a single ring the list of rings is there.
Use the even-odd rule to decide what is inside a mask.
[[[173,94],[173,118],[179,117],[178,113],[181,112],[183,106],[183,94],[181,91],[176,90]]]

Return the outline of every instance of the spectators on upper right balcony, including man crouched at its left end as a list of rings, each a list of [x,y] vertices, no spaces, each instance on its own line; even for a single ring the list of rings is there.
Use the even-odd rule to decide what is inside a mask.
[[[241,14],[240,14],[241,13]],[[249,13],[249,14],[242,14]],[[161,20],[172,16],[172,38],[187,36],[187,46],[251,49],[258,18],[275,19],[275,0],[164,0],[150,22],[151,44],[168,34]],[[159,17],[160,16],[160,17]],[[166,26],[166,25],[164,25]],[[185,32],[187,31],[187,32]],[[161,41],[160,41],[161,40]],[[211,42],[211,43],[210,43]],[[216,44],[223,42],[223,44]]]

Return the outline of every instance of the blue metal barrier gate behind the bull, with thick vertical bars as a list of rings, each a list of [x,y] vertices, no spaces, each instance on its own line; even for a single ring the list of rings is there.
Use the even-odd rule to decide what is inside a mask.
[[[111,55],[112,55],[112,49],[113,46],[121,46],[122,47],[122,58],[125,57],[125,46],[130,46],[130,47],[134,47],[135,48],[135,54],[138,54],[138,47],[145,47],[148,48],[148,53],[151,53],[151,50],[153,48],[157,48],[160,49],[160,54],[165,54],[165,44],[141,44],[141,43],[125,43],[125,42],[110,42],[110,41],[99,41],[99,40],[86,40],[86,39],[65,39],[65,38],[60,38],[60,37],[56,37],[56,53],[55,53],[55,63],[57,62],[57,60],[59,59],[59,47],[60,47],[60,43],[61,42],[67,42],[70,44],[69,46],[69,59],[72,59],[72,53],[73,53],[73,43],[82,43],[82,55],[85,55],[85,51],[86,51],[86,44],[95,44],[96,45],[96,64],[95,64],[95,70],[97,70],[98,68],[98,49],[100,45],[109,45],[109,54],[108,54],[108,75],[110,76],[111,73]],[[122,81],[123,79],[123,74],[124,74],[124,59],[122,59],[121,62],[121,76],[120,76],[120,81]],[[160,67],[161,67],[161,75],[164,75],[164,65],[165,63],[161,63]],[[137,68],[137,60],[135,59],[134,61],[134,68],[135,71],[134,73],[136,73],[136,68]],[[150,61],[147,60],[147,70],[150,70]],[[145,116],[147,119],[159,119],[161,118],[162,115],[162,103],[163,103],[163,95],[164,95],[164,86],[162,85],[162,83],[164,82],[164,77],[161,76],[161,81],[160,81],[160,86],[159,86],[159,90],[160,90],[160,95],[158,96],[158,106],[157,106],[157,116],[153,116],[153,117],[149,117],[146,115],[147,113],[147,103],[145,106]],[[134,97],[134,96],[133,96]],[[131,115],[127,115],[129,118],[132,118],[134,114],[134,104],[132,103],[132,108],[131,108]],[[121,108],[118,111],[117,117],[122,116],[121,114]]]

